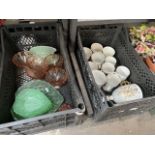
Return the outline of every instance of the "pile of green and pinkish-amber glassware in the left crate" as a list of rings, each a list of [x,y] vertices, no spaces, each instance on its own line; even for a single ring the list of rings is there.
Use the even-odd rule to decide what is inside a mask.
[[[72,109],[70,104],[64,103],[59,92],[67,82],[68,74],[64,69],[64,59],[55,48],[32,47],[29,51],[16,53],[12,62],[17,67],[17,77],[22,72],[28,79],[15,94],[11,108],[15,120]]]

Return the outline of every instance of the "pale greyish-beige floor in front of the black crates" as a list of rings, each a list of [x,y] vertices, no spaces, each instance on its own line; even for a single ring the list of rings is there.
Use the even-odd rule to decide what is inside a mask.
[[[65,129],[51,130],[40,135],[107,135],[107,134],[155,134],[155,116],[145,112],[123,118],[94,123],[87,119],[83,124]]]

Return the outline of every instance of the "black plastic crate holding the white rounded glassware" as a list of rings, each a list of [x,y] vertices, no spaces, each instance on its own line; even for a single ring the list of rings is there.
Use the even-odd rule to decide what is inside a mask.
[[[115,57],[118,64],[125,65],[130,69],[131,75],[128,80],[142,88],[144,99],[125,102],[121,105],[102,101],[105,95],[97,87],[83,51],[83,47],[90,47],[93,42],[101,43],[103,46],[112,46],[116,50]],[[132,48],[124,35],[123,24],[97,25],[97,22],[94,25],[85,24],[82,26],[81,24],[77,30],[76,45],[77,59],[96,120],[152,111],[155,108],[155,97],[149,97],[154,95],[152,90],[154,89],[155,80],[147,72],[147,67],[140,62],[139,57],[132,52]],[[142,71],[143,74],[140,74]]]

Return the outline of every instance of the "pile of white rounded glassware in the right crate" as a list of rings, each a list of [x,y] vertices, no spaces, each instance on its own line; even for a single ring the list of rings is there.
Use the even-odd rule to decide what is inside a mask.
[[[126,81],[130,76],[130,70],[126,66],[117,65],[115,49],[92,43],[90,48],[84,47],[83,50],[95,82],[107,94],[108,100],[121,104],[143,98],[141,88]]]

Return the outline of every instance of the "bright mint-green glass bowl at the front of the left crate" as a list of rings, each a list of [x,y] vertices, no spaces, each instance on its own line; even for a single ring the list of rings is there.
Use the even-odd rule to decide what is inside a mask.
[[[27,88],[16,95],[12,112],[21,118],[32,118],[48,113],[52,107],[53,103],[44,93]]]

